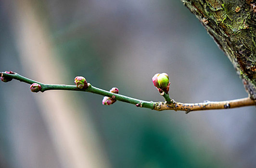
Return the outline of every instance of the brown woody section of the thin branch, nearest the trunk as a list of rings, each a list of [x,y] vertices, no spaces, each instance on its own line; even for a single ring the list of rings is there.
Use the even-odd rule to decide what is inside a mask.
[[[228,101],[205,101],[203,103],[179,103],[174,100],[171,103],[159,102],[154,107],[154,110],[175,110],[175,111],[198,111],[208,109],[225,109],[225,108],[239,108],[244,106],[256,106],[256,100],[247,98],[240,98]]]

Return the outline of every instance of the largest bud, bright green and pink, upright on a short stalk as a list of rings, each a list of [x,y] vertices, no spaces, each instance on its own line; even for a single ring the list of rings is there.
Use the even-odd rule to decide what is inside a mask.
[[[163,90],[168,94],[170,82],[167,73],[156,73],[152,78],[152,82],[159,92]]]

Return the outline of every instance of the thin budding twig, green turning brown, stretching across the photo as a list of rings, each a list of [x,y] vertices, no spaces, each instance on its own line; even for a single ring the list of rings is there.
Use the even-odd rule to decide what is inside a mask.
[[[135,99],[128,96],[123,96],[118,93],[109,92],[97,87],[92,86],[91,84],[86,83],[86,87],[78,88],[77,85],[65,85],[65,84],[43,84],[39,83],[37,81],[28,79],[24,76],[19,75],[18,73],[14,72],[0,72],[1,80],[3,82],[9,82],[12,79],[16,79],[18,81],[31,84],[30,89],[32,92],[44,92],[47,90],[71,90],[71,91],[82,91],[82,92],[90,92],[102,96],[107,96],[112,100],[118,100],[130,104],[134,104],[137,107],[141,108],[151,108],[157,111],[162,110],[175,110],[175,111],[186,111],[186,113],[189,113],[190,111],[197,111],[197,110],[208,110],[208,109],[225,109],[225,108],[237,108],[237,107],[244,107],[244,106],[255,106],[256,100],[252,100],[249,97],[248,98],[241,98],[241,99],[235,99],[235,100],[229,100],[229,101],[205,101],[203,103],[179,103],[175,100],[171,99],[169,97],[169,94],[167,94],[165,91],[166,88],[163,88],[163,90],[159,89],[160,94],[165,98],[165,102],[153,102],[153,101],[144,101]],[[77,79],[77,78],[76,78]],[[168,81],[169,83],[169,81]],[[170,84],[170,83],[169,83]],[[167,85],[167,91],[169,90],[169,84]],[[39,86],[39,87],[38,87]],[[35,90],[38,89],[38,90]],[[115,102],[114,101],[114,102]],[[114,103],[113,102],[113,103]],[[113,104],[111,103],[111,104]]]

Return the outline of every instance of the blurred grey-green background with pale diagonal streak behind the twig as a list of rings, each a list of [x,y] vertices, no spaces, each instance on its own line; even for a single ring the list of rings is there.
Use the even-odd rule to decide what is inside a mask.
[[[246,97],[232,64],[180,0],[0,0],[0,71],[163,101]],[[0,83],[0,168],[256,167],[256,108],[157,112],[72,91]]]

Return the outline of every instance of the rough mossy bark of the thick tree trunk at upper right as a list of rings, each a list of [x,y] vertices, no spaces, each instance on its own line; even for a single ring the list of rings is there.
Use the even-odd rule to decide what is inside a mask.
[[[232,62],[246,92],[256,99],[254,0],[181,0]]]

